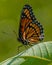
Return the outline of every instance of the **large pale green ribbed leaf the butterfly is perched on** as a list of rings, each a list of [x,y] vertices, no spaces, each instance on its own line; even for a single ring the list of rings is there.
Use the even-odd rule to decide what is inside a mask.
[[[32,46],[26,51],[11,57],[0,65],[51,65],[52,41],[42,42]]]

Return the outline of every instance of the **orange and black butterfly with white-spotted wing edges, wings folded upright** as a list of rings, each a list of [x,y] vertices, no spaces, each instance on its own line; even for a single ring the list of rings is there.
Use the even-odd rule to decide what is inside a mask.
[[[24,5],[20,25],[19,41],[24,45],[32,45],[44,39],[43,26],[37,21],[30,5]]]

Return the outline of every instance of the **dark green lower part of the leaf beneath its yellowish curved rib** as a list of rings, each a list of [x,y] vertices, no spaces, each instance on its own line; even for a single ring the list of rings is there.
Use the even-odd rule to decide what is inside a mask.
[[[38,58],[38,57],[25,57],[26,61],[23,62],[21,65],[47,65],[51,61],[48,59]]]

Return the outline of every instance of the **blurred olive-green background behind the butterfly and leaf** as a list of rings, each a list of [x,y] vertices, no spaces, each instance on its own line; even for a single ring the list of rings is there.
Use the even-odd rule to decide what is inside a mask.
[[[0,62],[17,54],[20,14],[27,3],[44,27],[44,41],[52,41],[52,0],[0,0]]]

